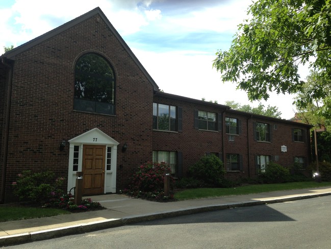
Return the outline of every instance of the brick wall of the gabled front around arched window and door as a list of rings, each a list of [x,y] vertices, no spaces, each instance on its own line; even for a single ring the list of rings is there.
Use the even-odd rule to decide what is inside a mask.
[[[100,19],[100,18],[98,18]],[[73,110],[75,60],[92,51],[105,56],[116,77],[116,115]],[[96,16],[17,55],[13,76],[7,189],[22,170],[67,176],[66,141],[99,128],[119,142],[117,189],[151,158],[153,87],[104,22]],[[128,150],[121,152],[121,146]]]

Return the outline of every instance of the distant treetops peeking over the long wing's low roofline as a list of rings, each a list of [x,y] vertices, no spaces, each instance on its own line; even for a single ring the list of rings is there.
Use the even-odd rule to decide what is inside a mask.
[[[268,105],[266,108],[262,103],[259,103],[257,107],[251,107],[250,105],[241,105],[235,101],[225,101],[225,105],[230,106],[235,110],[250,112],[253,114],[264,115],[271,118],[281,118],[282,112],[278,111],[278,107]]]

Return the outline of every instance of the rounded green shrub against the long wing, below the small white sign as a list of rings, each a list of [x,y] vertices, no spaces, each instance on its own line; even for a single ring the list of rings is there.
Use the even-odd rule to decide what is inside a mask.
[[[284,183],[288,182],[290,170],[276,163],[266,165],[264,171],[259,173],[259,178],[263,183]]]

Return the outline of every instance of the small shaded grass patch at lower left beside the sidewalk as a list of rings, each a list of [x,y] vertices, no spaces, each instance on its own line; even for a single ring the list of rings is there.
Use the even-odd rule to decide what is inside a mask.
[[[0,205],[0,222],[49,217],[70,213],[71,212],[62,209]]]

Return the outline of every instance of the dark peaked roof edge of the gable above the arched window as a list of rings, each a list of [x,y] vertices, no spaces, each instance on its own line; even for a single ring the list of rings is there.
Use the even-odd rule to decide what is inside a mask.
[[[101,17],[101,19],[104,20],[104,22],[106,23],[106,25],[109,27],[109,29],[114,33],[115,37],[118,39],[118,41],[121,43],[121,45],[123,46],[123,48],[126,50],[126,52],[128,52],[128,54],[130,55],[130,57],[134,60],[134,62],[139,66],[140,70],[143,72],[143,74],[146,76],[146,78],[148,79],[148,81],[152,84],[153,88],[155,91],[159,91],[159,86],[156,84],[156,82],[151,78],[151,76],[148,74],[148,72],[145,70],[145,68],[143,67],[143,65],[140,63],[140,61],[137,59],[137,57],[134,55],[134,53],[131,51],[131,49],[129,48],[128,44],[125,43],[125,41],[123,40],[123,38],[119,35],[119,33],[116,31],[116,29],[114,28],[114,26],[110,23],[110,21],[108,20],[108,18],[106,17],[106,15],[104,14],[103,11],[101,11],[101,9],[99,7],[71,20],[66,22],[65,24],[59,26],[58,28],[55,28],[51,31],[48,31],[47,33],[40,35],[36,38],[34,38],[33,40],[30,40],[20,46],[18,46],[15,49],[12,49],[10,51],[8,51],[7,53],[3,54],[0,58],[6,58],[6,59],[10,59],[10,60],[15,60],[15,56],[25,50],[28,50],[30,48],[32,48],[33,46],[36,46],[37,44],[49,39],[50,37],[53,37],[77,24],[79,24],[80,22],[94,16],[94,15],[99,15]],[[1,61],[1,60],[0,60]]]

